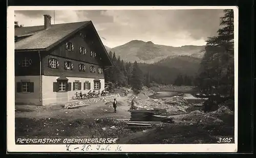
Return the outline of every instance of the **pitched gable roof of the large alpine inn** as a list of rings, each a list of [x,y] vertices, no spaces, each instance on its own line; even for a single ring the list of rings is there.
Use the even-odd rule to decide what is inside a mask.
[[[100,40],[100,37],[92,21],[52,24],[51,27],[47,30],[45,30],[44,25],[15,28],[15,36],[29,36],[15,42],[15,51],[49,50],[57,44],[65,41],[78,31],[82,30],[88,24],[91,24],[93,26],[95,36],[100,42],[100,45],[104,51],[104,56],[108,59],[108,62],[110,63],[109,65],[113,65],[110,56],[106,51],[102,41]]]

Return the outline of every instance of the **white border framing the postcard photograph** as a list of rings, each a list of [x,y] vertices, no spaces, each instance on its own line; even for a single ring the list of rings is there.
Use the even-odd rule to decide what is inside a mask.
[[[177,9],[233,9],[234,13],[234,144],[111,144],[112,150],[93,148],[84,152],[237,152],[238,146],[238,7],[237,6],[11,6],[7,10],[7,151],[9,152],[70,152],[66,145],[15,144],[15,82],[14,82],[14,11],[15,10],[177,10]],[[81,147],[81,145],[77,145]],[[92,147],[95,146],[91,145]],[[73,151],[78,152],[78,151]],[[81,152],[81,150],[79,151]]]

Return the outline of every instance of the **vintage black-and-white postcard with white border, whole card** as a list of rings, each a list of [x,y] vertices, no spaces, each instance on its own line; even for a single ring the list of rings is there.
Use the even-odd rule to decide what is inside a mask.
[[[237,152],[238,7],[9,7],[9,152]]]

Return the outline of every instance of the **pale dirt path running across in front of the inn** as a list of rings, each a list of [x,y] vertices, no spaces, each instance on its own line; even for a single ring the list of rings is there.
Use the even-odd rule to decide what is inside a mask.
[[[117,113],[113,113],[114,109],[111,103],[97,102],[86,107],[77,109],[63,109],[61,106],[15,106],[15,118],[57,118],[57,119],[86,119],[86,118],[130,118],[129,104],[125,101],[126,97],[117,98]],[[105,104],[106,103],[106,104]]]

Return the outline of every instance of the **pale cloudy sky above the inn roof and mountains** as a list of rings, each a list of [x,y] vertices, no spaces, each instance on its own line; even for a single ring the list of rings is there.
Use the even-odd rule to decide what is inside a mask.
[[[54,11],[15,11],[24,27],[44,24],[44,14]],[[216,35],[223,10],[57,10],[55,24],[92,20],[104,45],[115,47],[131,40],[182,46],[204,45]]]

